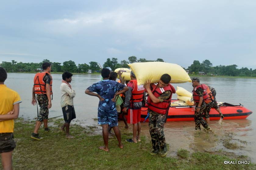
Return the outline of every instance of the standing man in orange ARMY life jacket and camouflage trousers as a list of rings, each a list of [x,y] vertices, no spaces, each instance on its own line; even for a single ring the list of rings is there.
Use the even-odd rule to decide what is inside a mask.
[[[31,134],[30,138],[35,140],[41,140],[43,137],[40,137],[38,134],[38,130],[44,122],[44,131],[48,132],[50,129],[48,128],[48,115],[49,109],[52,107],[51,95],[52,95],[52,76],[51,72],[51,64],[43,63],[42,65],[43,72],[37,73],[34,77],[34,86],[32,89],[32,105],[37,102],[40,106],[39,115],[37,117],[36,126],[34,128],[34,132]],[[37,96],[35,96],[37,94]]]

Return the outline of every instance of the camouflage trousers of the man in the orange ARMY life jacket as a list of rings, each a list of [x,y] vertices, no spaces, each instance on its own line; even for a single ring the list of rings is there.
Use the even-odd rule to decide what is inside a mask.
[[[49,109],[48,107],[48,97],[46,94],[37,95],[37,104],[40,106],[39,115],[37,121],[42,122],[44,119],[48,119]]]

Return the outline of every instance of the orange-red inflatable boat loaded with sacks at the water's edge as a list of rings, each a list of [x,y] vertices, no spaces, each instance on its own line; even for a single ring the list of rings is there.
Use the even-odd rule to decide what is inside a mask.
[[[177,100],[172,100],[172,102]],[[222,103],[220,106],[221,112],[224,116],[223,120],[230,119],[245,119],[252,111],[245,108],[243,105],[232,105],[229,103]],[[148,115],[148,108],[141,108],[141,119],[143,122]],[[210,110],[210,120],[219,120],[219,112],[214,108]],[[148,122],[148,119],[146,120]],[[170,106],[166,121],[194,121],[194,106]]]

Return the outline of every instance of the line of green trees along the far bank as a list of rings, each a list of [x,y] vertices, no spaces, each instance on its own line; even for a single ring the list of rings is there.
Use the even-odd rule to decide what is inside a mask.
[[[116,68],[129,68],[129,63],[150,61],[164,62],[164,60],[161,58],[157,58],[156,60],[147,60],[145,58],[137,59],[136,56],[130,56],[128,57],[128,61],[122,60],[119,63],[118,59],[113,57],[111,59],[107,58],[107,61],[103,64],[103,68],[110,67],[114,71]],[[18,63],[15,60],[12,60],[11,62],[2,61],[0,66],[5,68],[7,72],[34,72],[38,68],[41,68],[44,62],[49,62],[52,64],[52,72],[69,71],[72,73],[87,73],[88,70],[91,70],[91,72],[94,73],[99,72],[101,70],[101,65],[95,61],[91,61],[88,64],[84,63],[76,65],[76,63],[71,60],[59,63],[51,62],[48,59],[45,59],[40,63]],[[202,61],[202,63],[200,63],[200,61],[194,60],[193,64],[191,64],[187,69],[184,69],[189,71],[189,73],[192,75],[200,75],[204,73],[206,75],[256,76],[256,69],[252,70],[252,68],[248,69],[247,67],[242,67],[238,69],[237,67],[238,66],[236,64],[227,66],[213,66],[211,61],[209,60],[204,60]]]

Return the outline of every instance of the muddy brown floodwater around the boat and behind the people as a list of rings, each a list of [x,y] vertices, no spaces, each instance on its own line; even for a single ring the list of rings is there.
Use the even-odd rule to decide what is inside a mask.
[[[60,89],[62,76],[53,74],[53,100],[49,110],[49,118],[61,116]],[[37,116],[36,106],[31,105],[34,74],[8,73],[5,84],[16,90],[22,99],[20,104],[20,117],[33,119]],[[100,80],[100,75],[73,75],[72,88],[76,91],[74,107],[76,119],[73,123],[84,126],[98,126],[97,107],[98,98],[85,95],[84,91],[91,84]],[[166,142],[169,144],[169,156],[176,155],[178,149],[188,151],[225,152],[237,155],[247,155],[251,161],[256,162],[256,79],[247,78],[200,78],[201,83],[212,86],[217,91],[218,102],[228,102],[235,105],[241,103],[253,113],[243,120],[211,121],[212,133],[196,132],[194,121],[167,122],[165,124]],[[172,84],[192,91],[191,83]],[[173,95],[176,99],[177,95]],[[61,117],[62,118],[62,117]],[[124,129],[122,121],[119,122],[122,133],[132,133],[132,125]],[[99,127],[100,130],[100,127]],[[148,123],[142,123],[142,135],[150,140]]]

